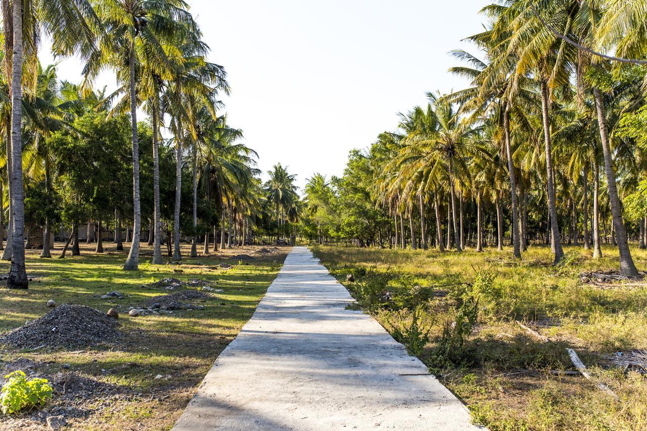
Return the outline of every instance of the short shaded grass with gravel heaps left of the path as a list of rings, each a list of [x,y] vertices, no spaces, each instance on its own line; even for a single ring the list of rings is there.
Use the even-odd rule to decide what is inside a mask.
[[[41,259],[39,251],[28,251],[27,271],[33,277],[30,288],[0,289],[0,333],[41,317],[49,311],[45,306],[47,300],[53,299],[59,305],[83,304],[103,312],[115,307],[120,311],[119,329],[124,336],[115,343],[82,350],[47,346],[35,351],[2,348],[0,371],[16,361],[30,360],[34,361],[32,370],[45,377],[74,373],[76,381],[87,390],[80,390],[71,401],[54,394],[45,409],[50,414],[63,412],[69,428],[169,429],[215,358],[254,313],[288,248],[258,257],[254,251],[259,247],[239,247],[218,251],[217,255],[185,258],[181,265],[164,266],[151,266],[150,257],[141,256],[140,270],[127,272],[121,269],[127,247],[126,251],[116,252],[114,244],[105,246],[105,253],[99,255],[93,252],[94,246],[83,244],[80,257],[68,254],[65,259]],[[148,248],[144,247],[142,252],[149,252]],[[183,252],[188,255],[188,247]],[[239,254],[253,258],[234,257]],[[219,262],[233,268],[209,268]],[[8,263],[1,262],[0,273],[6,271]],[[141,306],[149,297],[186,289],[171,292],[140,287],[163,277],[202,279],[222,291],[215,292],[215,299],[203,304],[204,310],[129,317],[129,307]],[[115,290],[126,298],[100,298]],[[157,375],[162,377],[156,379]],[[49,429],[45,415],[0,415],[0,429]]]

